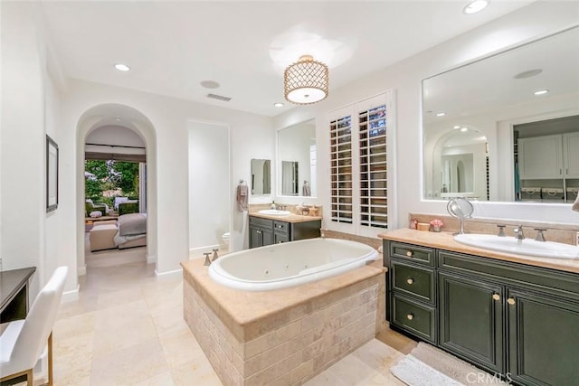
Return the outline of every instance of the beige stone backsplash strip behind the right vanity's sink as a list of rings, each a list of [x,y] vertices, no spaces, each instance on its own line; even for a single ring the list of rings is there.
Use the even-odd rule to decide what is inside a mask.
[[[442,231],[456,232],[460,230],[460,221],[451,216],[428,213],[409,213],[409,223],[413,219],[424,223],[430,223],[431,220],[439,219],[444,223]],[[547,241],[556,241],[571,245],[575,245],[575,235],[576,232],[579,231],[579,225],[555,224],[537,221],[479,219],[476,217],[464,221],[464,231],[467,233],[498,234],[498,224],[507,225],[507,228],[505,228],[507,236],[513,235],[513,228],[516,228],[518,225],[523,225],[525,236],[529,239],[535,239],[535,228],[543,228],[546,229],[544,234]]]

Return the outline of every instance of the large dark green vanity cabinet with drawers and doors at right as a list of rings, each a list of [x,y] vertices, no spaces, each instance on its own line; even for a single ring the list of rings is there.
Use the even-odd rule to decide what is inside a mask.
[[[394,328],[517,384],[579,382],[578,274],[398,241],[384,252]]]

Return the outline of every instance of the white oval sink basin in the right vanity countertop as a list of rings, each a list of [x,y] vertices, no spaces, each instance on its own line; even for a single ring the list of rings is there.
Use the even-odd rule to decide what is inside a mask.
[[[461,244],[498,252],[540,258],[579,259],[579,247],[554,241],[517,240],[514,237],[498,237],[490,234],[458,234],[454,240]]]

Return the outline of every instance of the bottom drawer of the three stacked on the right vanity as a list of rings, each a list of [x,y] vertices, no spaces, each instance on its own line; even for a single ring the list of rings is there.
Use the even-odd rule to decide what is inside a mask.
[[[436,310],[394,294],[392,324],[436,344]]]

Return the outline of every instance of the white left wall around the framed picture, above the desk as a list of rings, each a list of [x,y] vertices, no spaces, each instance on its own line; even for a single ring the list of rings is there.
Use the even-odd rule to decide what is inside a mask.
[[[49,74],[38,5],[2,2],[1,8],[0,256],[3,269],[37,268],[33,298],[54,268],[66,264],[62,194],[59,208],[45,211],[45,134],[60,145],[61,97]],[[67,292],[76,290],[72,276]]]

